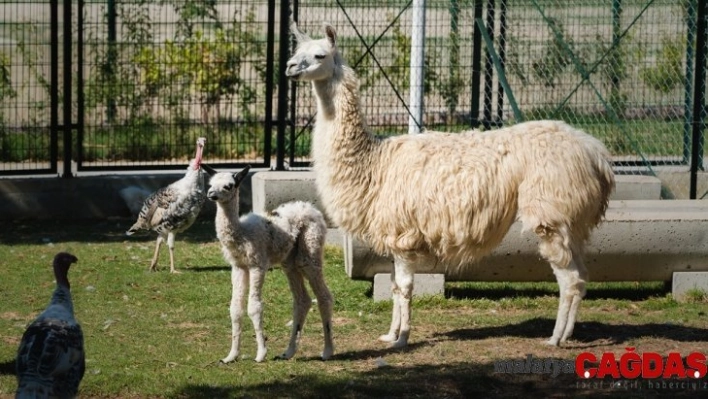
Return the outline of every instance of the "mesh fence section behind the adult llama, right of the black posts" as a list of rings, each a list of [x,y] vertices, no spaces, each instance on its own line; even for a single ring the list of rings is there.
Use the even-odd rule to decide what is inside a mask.
[[[665,198],[688,198],[696,3],[428,1],[423,124],[460,131],[562,119],[600,138],[618,173],[657,176]],[[408,130],[410,7],[410,1],[299,4],[300,26],[314,36],[322,21],[337,28],[342,52],[361,78],[368,122],[381,134]],[[477,38],[475,25],[482,28]],[[297,105],[293,153],[307,161],[315,112],[307,87],[298,91]],[[703,153],[701,144],[701,168]],[[702,177],[698,196],[708,190]]]

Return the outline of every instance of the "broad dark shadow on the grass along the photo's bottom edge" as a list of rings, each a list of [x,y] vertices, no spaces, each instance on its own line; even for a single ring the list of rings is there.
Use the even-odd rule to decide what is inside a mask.
[[[518,359],[513,359],[518,360]],[[267,378],[267,377],[264,377]],[[250,386],[185,385],[174,398],[646,398],[660,397],[656,390],[617,389],[583,384],[572,374],[496,373],[493,363],[385,366],[339,377],[336,373],[305,374],[287,380],[266,381]],[[674,390],[670,397],[696,397],[695,391]]]

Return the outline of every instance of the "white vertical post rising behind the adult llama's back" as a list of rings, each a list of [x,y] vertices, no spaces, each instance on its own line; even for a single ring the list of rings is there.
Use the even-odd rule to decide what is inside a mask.
[[[413,0],[411,26],[411,79],[408,133],[420,133],[423,125],[423,91],[425,70],[425,0]]]

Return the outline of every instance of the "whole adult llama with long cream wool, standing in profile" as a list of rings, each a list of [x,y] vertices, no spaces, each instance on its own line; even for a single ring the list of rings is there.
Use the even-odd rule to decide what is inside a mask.
[[[336,33],[298,41],[286,74],[310,81],[317,98],[312,158],[327,213],[345,231],[394,258],[393,317],[379,339],[407,345],[413,273],[441,261],[459,267],[487,255],[515,219],[540,238],[560,287],[553,335],[573,332],[585,295],[583,247],[614,188],[609,154],[563,122],[495,131],[377,138],[359,104],[359,82],[337,50]]]

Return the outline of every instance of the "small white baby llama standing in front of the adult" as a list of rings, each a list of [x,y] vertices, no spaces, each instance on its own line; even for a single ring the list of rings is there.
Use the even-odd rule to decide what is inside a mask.
[[[293,324],[290,343],[279,357],[290,359],[297,351],[300,333],[312,300],[305,288],[307,279],[317,297],[324,330],[322,359],[334,353],[332,344],[332,306],[334,301],[322,274],[327,225],[324,216],[312,204],[302,201],[280,205],[269,215],[249,213],[239,218],[238,188],[247,176],[246,167],[236,174],[216,173],[209,180],[207,198],[216,202],[216,235],[224,258],[231,265],[231,351],[222,362],[238,357],[241,341],[241,318],[248,292],[248,316],[256,331],[256,361],[266,356],[263,334],[265,275],[271,265],[283,267],[293,295]]]

